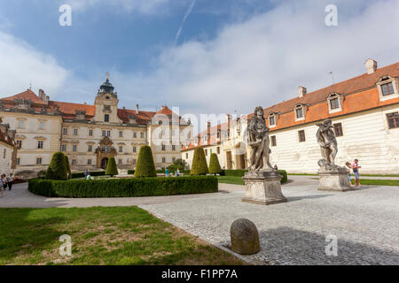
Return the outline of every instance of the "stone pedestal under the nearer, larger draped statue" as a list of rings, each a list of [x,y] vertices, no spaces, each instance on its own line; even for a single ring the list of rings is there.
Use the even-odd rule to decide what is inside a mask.
[[[246,173],[242,178],[246,182],[242,201],[262,205],[286,203],[286,196],[281,192],[281,178],[276,170]]]

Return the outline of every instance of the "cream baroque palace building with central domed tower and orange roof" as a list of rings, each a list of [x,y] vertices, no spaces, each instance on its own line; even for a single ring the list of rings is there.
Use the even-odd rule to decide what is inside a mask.
[[[16,130],[15,175],[35,177],[57,151],[66,153],[74,172],[105,169],[109,157],[122,171],[134,169],[143,145],[152,147],[157,169],[180,158],[180,134],[190,133],[190,121],[167,106],[157,112],[140,111],[138,104],[135,110],[120,109],[113,89],[106,78],[94,105],[51,101],[42,89],[38,96],[27,89],[0,99],[0,118]],[[170,133],[177,138],[172,141]]]

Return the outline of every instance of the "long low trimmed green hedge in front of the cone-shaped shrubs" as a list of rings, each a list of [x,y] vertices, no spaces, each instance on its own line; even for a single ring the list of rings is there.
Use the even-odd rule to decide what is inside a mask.
[[[189,195],[218,191],[215,176],[111,180],[29,180],[29,192],[48,197],[136,197]]]

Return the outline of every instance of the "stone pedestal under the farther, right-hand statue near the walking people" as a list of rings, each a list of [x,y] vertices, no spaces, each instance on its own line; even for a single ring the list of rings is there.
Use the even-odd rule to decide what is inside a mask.
[[[320,169],[317,173],[319,176],[317,190],[319,191],[345,192],[353,190],[353,187],[349,185],[348,171],[343,167],[337,166],[330,170]]]

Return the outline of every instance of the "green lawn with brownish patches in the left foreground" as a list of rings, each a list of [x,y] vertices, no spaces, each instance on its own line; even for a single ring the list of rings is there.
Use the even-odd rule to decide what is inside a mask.
[[[4,264],[244,264],[137,207],[0,209]],[[60,256],[59,236],[72,238]]]

